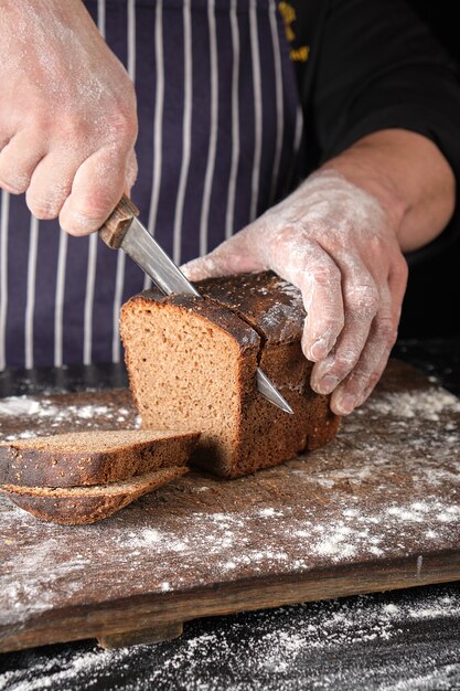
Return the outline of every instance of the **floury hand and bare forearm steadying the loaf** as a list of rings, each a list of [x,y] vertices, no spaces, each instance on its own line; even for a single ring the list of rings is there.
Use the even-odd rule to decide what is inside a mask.
[[[192,280],[271,268],[302,291],[311,386],[346,415],[378,381],[407,281],[403,251],[452,215],[453,172],[437,146],[402,129],[373,132],[206,257]]]

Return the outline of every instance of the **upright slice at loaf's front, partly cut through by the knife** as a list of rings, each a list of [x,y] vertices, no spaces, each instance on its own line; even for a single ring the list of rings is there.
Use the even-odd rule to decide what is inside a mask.
[[[226,308],[188,295],[147,293],[122,307],[131,392],[142,427],[200,429],[195,461],[231,477],[254,427],[245,416],[255,387],[260,338]]]

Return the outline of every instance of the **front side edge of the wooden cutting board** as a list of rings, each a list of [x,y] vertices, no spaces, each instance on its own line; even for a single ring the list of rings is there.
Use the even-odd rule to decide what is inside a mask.
[[[154,593],[100,605],[42,613],[0,627],[0,652],[109,636],[131,636],[208,616],[460,581],[460,551],[378,564],[344,564],[321,572],[263,576],[186,592]]]

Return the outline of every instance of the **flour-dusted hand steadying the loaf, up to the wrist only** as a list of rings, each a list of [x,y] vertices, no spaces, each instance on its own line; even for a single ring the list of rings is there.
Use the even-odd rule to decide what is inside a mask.
[[[293,194],[191,262],[192,280],[271,268],[298,286],[307,311],[302,349],[311,386],[334,391],[347,414],[371,393],[396,339],[407,267],[379,203],[334,171]]]

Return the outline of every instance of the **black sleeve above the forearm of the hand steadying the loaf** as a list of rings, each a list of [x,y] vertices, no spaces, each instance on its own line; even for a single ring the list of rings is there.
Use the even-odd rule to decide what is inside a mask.
[[[458,68],[404,0],[330,0],[317,50],[306,117],[320,163],[373,131],[404,128],[438,146],[460,189]]]

